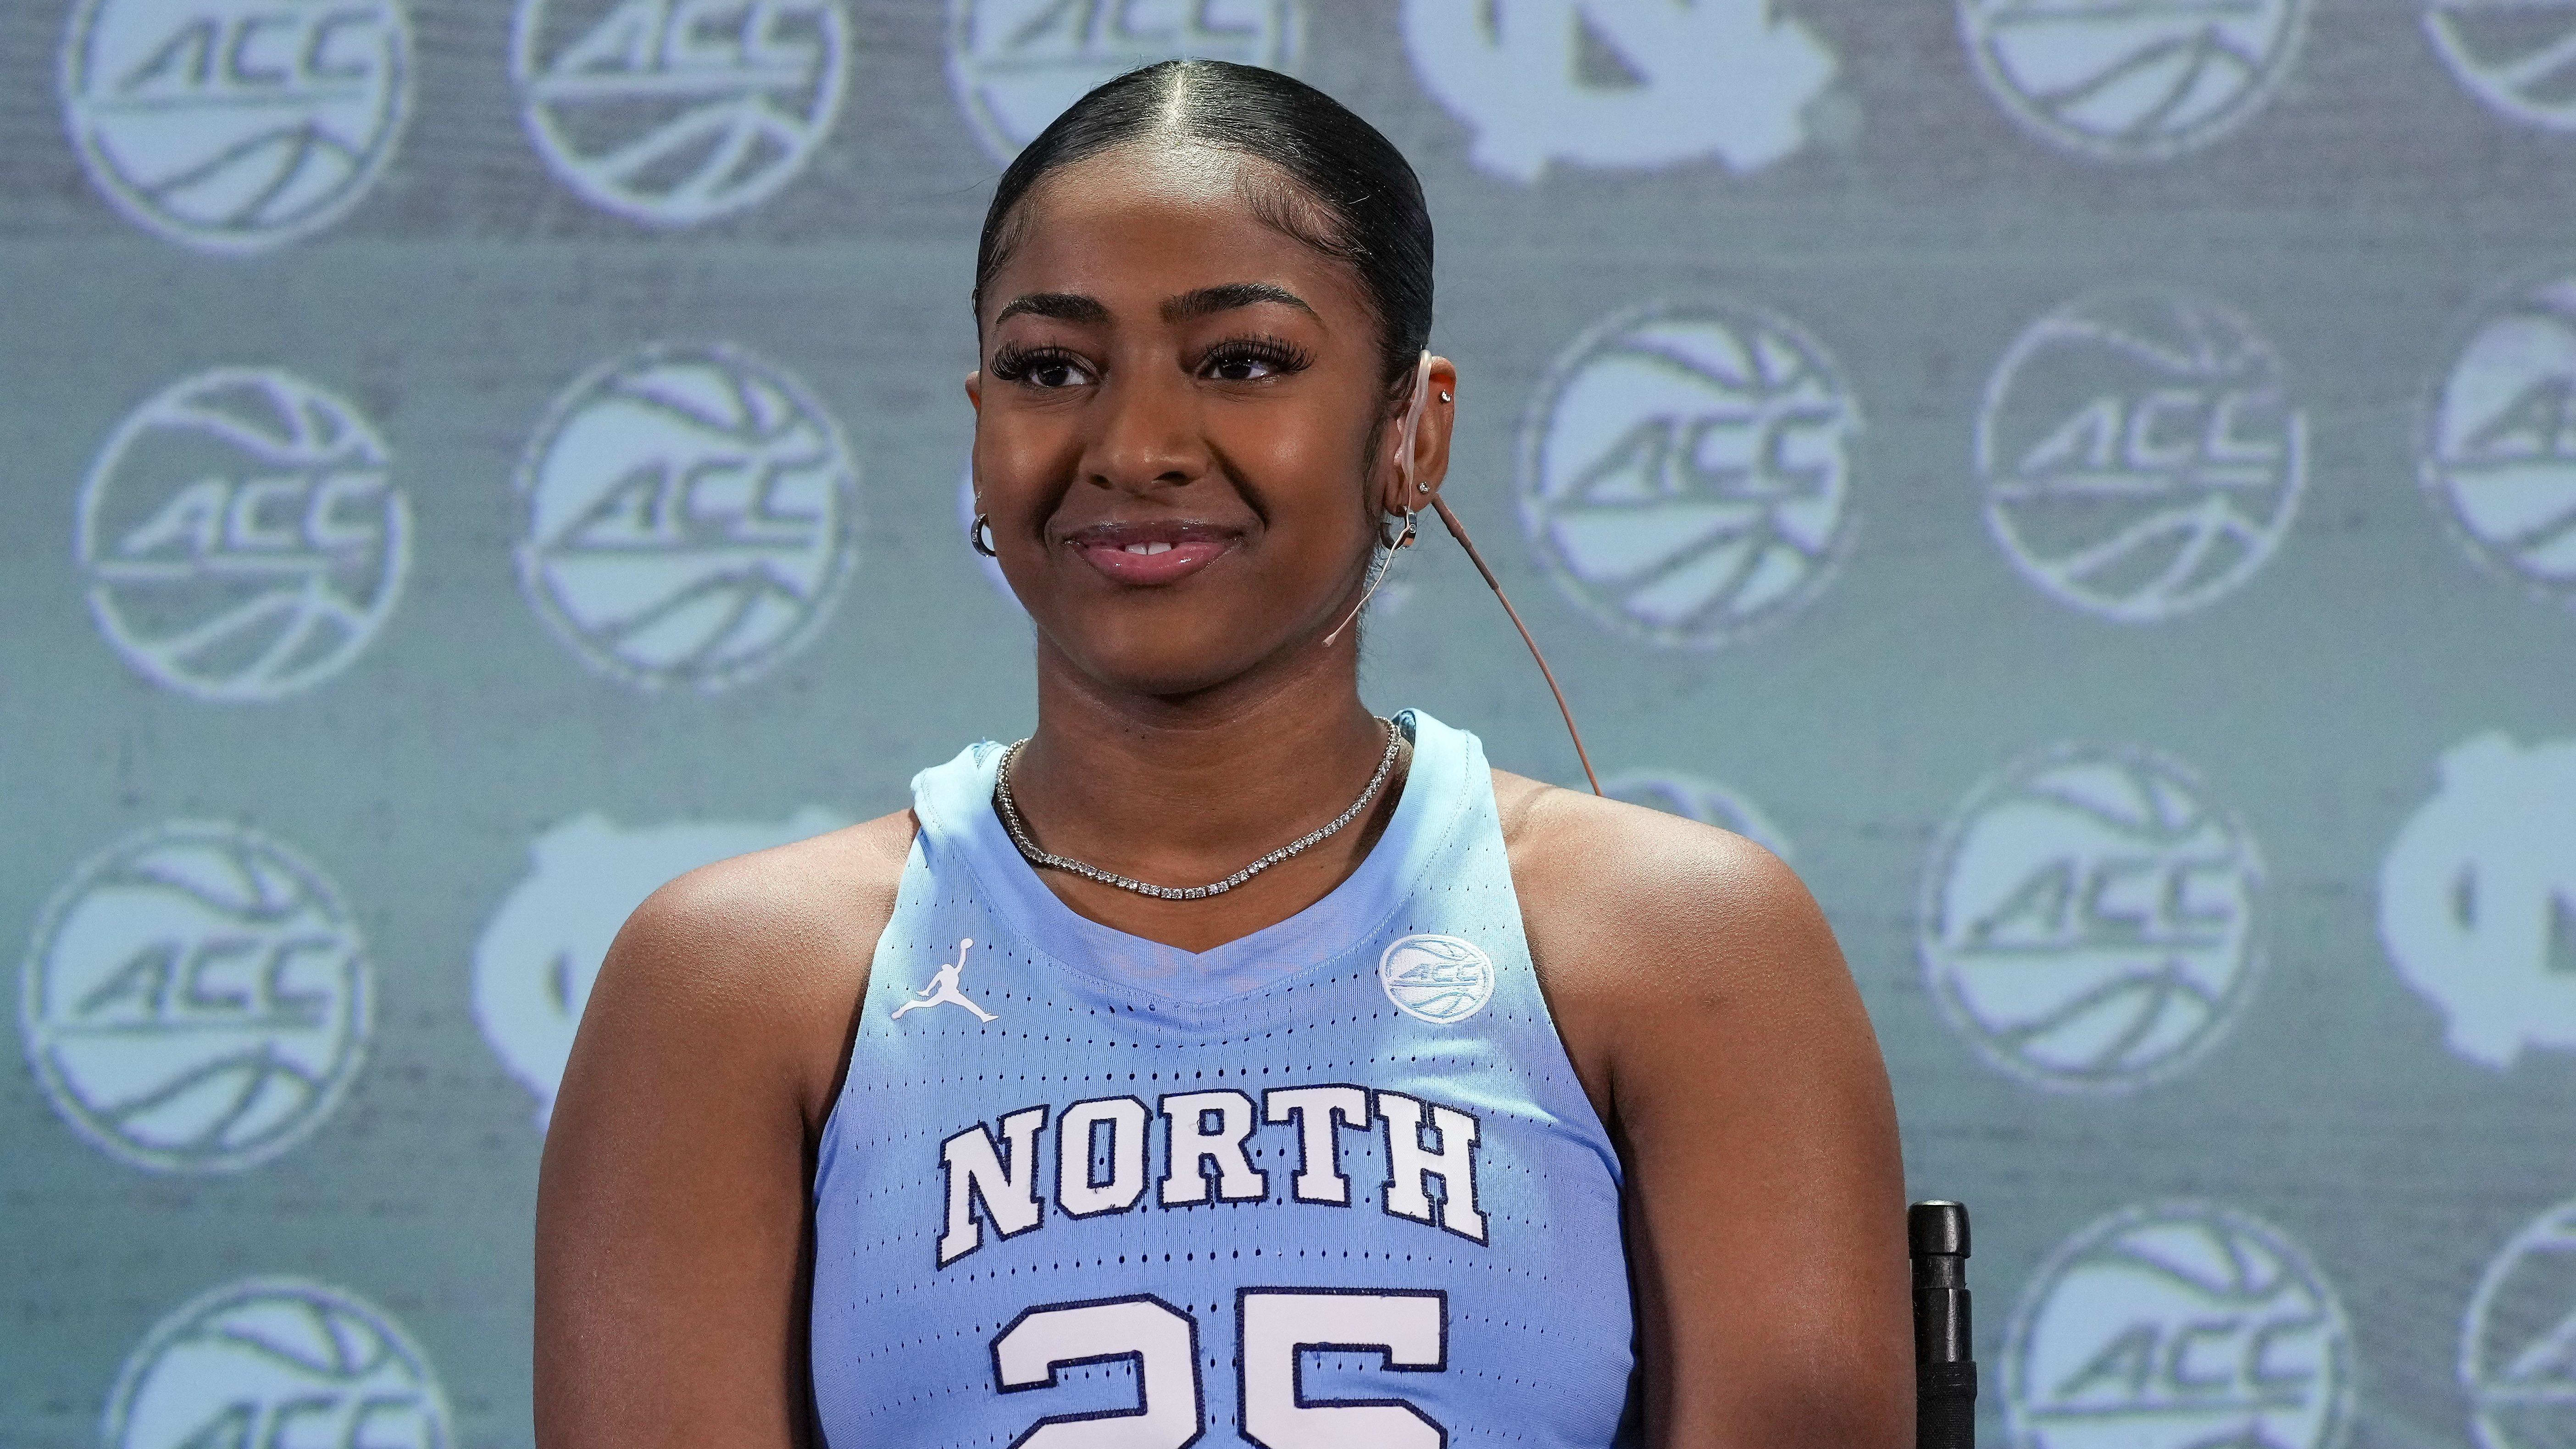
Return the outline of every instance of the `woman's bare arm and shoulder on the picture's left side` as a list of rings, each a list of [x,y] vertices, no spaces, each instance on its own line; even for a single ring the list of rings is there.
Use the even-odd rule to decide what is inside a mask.
[[[907,812],[719,861],[618,931],[538,1176],[541,1449],[811,1441],[814,1142],[909,843]]]

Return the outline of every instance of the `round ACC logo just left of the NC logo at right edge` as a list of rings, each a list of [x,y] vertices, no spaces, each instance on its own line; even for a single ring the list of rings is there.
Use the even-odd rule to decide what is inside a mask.
[[[1981,784],[1932,851],[1924,985],[1991,1065],[2130,1091],[2215,1047],[2262,967],[2262,861],[2177,761],[2061,745]]]

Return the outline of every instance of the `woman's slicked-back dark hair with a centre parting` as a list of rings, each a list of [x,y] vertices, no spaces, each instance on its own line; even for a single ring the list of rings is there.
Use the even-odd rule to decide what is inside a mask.
[[[1046,173],[1128,142],[1206,144],[1278,168],[1252,186],[1262,222],[1360,273],[1378,315],[1386,384],[1432,338],[1432,217],[1412,162],[1376,126],[1303,80],[1224,59],[1167,59],[1074,101],[1002,170],[974,258],[974,307],[1020,242],[1020,201]]]

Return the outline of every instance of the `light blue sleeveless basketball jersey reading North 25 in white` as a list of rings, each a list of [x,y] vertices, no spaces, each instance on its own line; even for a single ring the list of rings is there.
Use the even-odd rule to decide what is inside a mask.
[[[1530,972],[1473,735],[1213,951],[1077,915],[992,810],[920,833],[814,1171],[837,1449],[1636,1439],[1620,1165]]]

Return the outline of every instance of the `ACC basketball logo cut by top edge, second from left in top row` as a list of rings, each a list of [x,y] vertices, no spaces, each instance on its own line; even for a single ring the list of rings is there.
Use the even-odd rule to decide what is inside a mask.
[[[837,0],[520,0],[510,80],[546,168],[592,206],[688,227],[768,201],[840,113]]]

